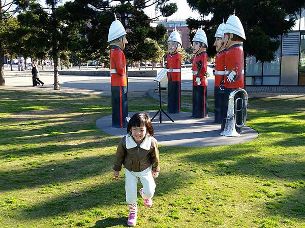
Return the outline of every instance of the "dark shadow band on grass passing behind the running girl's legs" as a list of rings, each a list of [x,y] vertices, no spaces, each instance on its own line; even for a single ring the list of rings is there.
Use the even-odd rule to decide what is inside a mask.
[[[108,176],[105,178],[109,178]],[[158,182],[160,183],[157,182],[158,187],[156,189],[157,194],[155,198],[158,197],[158,195],[163,196],[175,191],[175,189],[180,189],[184,186],[186,181],[190,181],[193,178],[194,177],[190,177],[185,173],[163,173],[162,176],[160,176],[160,179],[158,177]],[[52,196],[52,199],[45,198],[47,199],[45,202],[20,209],[19,212],[21,213],[21,216],[28,220],[32,220],[53,215],[63,215],[65,213],[79,213],[80,211],[100,206],[127,204],[125,201],[125,178],[123,175],[117,182],[114,182],[109,178],[109,180],[106,180],[105,184],[89,187],[85,191],[80,192],[80,196],[78,197],[71,196],[71,193],[56,194]],[[138,197],[140,197],[139,194]],[[126,210],[128,210],[127,207]],[[111,221],[118,222],[118,220],[115,219],[111,219]],[[120,224],[125,223],[126,220]]]

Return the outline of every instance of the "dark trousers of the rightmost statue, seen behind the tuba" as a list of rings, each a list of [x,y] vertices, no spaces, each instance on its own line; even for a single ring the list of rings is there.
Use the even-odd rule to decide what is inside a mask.
[[[223,130],[226,126],[226,118],[227,118],[227,112],[228,112],[228,105],[229,105],[229,96],[230,96],[230,93],[233,91],[234,89],[232,88],[225,88],[224,90],[224,109],[223,109],[223,121],[221,123],[221,130]],[[237,93],[236,96],[234,97],[234,102],[235,102],[235,99],[238,98],[238,97],[241,97],[240,93]],[[233,108],[234,108],[234,105],[233,105]],[[237,102],[237,110],[241,108],[241,104],[240,102]],[[241,124],[242,122],[242,113],[240,111],[238,111],[237,113],[235,113],[236,115],[236,122],[237,124]],[[237,133],[241,133],[242,132],[242,127],[239,128],[239,127],[235,127]]]

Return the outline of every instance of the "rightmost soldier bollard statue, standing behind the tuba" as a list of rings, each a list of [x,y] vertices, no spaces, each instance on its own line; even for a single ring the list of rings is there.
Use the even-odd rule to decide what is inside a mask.
[[[235,16],[235,9],[233,15],[231,15],[225,26],[224,26],[224,37],[222,42],[224,43],[226,51],[225,56],[225,78],[224,78],[224,117],[222,121],[222,130],[225,128],[227,112],[228,112],[228,102],[229,96],[232,91],[235,89],[241,88],[243,89],[244,86],[244,70],[243,70],[243,49],[242,43],[246,40],[245,31],[243,30],[242,24],[237,16]],[[240,98],[240,93],[236,94],[237,100],[243,100]],[[245,102],[236,102],[237,105],[235,109],[242,110],[245,107],[241,107],[242,103]],[[234,108],[234,107],[233,107]],[[243,122],[242,119],[245,119],[245,116],[242,115],[245,113],[243,111],[236,111],[236,124],[239,127],[236,127],[236,132],[242,132],[241,123]]]

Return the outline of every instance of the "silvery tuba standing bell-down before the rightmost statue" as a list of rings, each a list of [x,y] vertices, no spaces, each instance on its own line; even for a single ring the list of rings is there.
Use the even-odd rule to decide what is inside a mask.
[[[241,97],[235,99],[236,94],[241,93]],[[241,108],[237,109],[237,102],[241,103]],[[236,137],[240,136],[236,131],[236,127],[242,128],[246,124],[247,118],[247,105],[248,105],[248,93],[244,89],[233,90],[229,95],[228,111],[226,118],[226,125],[224,130],[220,133],[223,136]],[[241,112],[242,121],[237,123],[236,113]]]

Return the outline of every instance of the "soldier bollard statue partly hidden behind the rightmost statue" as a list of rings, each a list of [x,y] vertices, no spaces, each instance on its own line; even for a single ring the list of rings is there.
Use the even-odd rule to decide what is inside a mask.
[[[225,20],[225,19],[224,19]],[[215,58],[215,86],[214,86],[214,122],[221,124],[224,117],[224,78],[226,49],[222,39],[225,21],[220,24],[215,33],[216,58]]]

